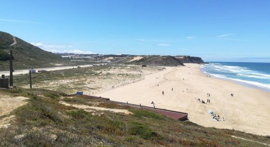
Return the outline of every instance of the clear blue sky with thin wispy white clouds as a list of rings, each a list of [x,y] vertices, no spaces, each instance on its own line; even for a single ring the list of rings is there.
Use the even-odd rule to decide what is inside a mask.
[[[270,62],[270,0],[0,0],[0,31],[53,52]]]

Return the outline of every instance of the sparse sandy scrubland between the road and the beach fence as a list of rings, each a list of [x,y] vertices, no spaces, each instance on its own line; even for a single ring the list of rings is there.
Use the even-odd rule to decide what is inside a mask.
[[[74,94],[77,91],[94,94],[95,92],[140,80],[144,74],[153,73],[160,69],[162,68],[103,65],[33,73],[32,86],[33,88],[49,89],[67,94]],[[29,87],[29,75],[14,76],[14,84],[20,87]]]

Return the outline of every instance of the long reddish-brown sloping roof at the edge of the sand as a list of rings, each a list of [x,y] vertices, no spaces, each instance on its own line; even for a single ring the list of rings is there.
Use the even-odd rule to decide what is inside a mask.
[[[78,96],[78,95],[70,95],[70,96]],[[109,98],[102,98],[102,97],[95,97],[95,96],[87,96],[87,95],[81,95],[83,98],[95,98],[95,99],[102,99],[102,100],[109,100]],[[137,107],[145,110],[150,110],[154,111],[156,113],[165,115],[167,117],[173,118],[175,120],[179,121],[186,121],[188,120],[188,113],[184,112],[178,112],[178,111],[172,111],[172,110],[167,110],[167,109],[160,109],[160,108],[154,108],[154,107],[148,107],[148,106],[143,106],[143,105],[136,105],[136,104],[131,104],[131,103],[125,103],[125,102],[119,102],[119,101],[113,101],[109,100],[110,102],[121,104],[121,105],[128,105],[132,107]]]

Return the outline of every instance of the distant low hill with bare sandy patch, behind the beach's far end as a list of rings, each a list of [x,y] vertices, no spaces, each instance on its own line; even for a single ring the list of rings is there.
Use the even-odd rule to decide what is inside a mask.
[[[173,56],[145,55],[128,58],[126,64],[150,66],[183,66],[184,64]]]

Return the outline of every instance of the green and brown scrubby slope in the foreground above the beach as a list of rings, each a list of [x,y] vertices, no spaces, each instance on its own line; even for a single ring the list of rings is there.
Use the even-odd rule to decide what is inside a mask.
[[[23,96],[28,103],[9,115],[15,115],[8,128],[0,128],[0,146],[187,146],[222,147],[270,144],[268,137],[235,130],[206,128],[195,123],[180,122],[163,115],[118,105],[105,100],[67,97],[64,93],[42,89],[0,90],[2,95]],[[73,106],[81,104],[105,108],[127,109],[133,114],[109,111],[88,112]]]

